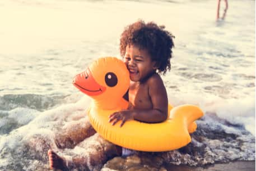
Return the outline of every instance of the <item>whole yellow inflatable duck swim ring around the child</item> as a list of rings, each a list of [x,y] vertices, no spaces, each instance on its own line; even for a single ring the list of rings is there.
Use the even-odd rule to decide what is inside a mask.
[[[109,115],[127,109],[123,95],[129,87],[129,72],[125,64],[115,57],[99,58],[73,79],[83,93],[92,97],[88,116],[94,129],[111,143],[144,152],[165,152],[187,145],[189,133],[196,130],[194,122],[203,112],[194,105],[169,105],[169,118],[162,123],[127,121],[121,128],[109,123]]]

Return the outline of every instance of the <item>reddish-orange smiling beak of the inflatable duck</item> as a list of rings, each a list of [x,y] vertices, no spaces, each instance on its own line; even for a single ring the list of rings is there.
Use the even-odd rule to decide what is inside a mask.
[[[89,96],[103,94],[103,92],[106,90],[106,87],[99,85],[95,81],[89,69],[76,75],[73,79],[73,85]]]

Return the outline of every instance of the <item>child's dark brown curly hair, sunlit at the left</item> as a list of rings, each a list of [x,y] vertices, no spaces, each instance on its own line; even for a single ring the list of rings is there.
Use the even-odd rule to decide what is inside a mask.
[[[164,75],[171,69],[170,58],[174,47],[173,38],[165,26],[157,26],[154,22],[145,23],[139,20],[124,28],[120,38],[120,53],[125,55],[125,48],[130,45],[147,50],[151,60],[156,62],[157,72]]]

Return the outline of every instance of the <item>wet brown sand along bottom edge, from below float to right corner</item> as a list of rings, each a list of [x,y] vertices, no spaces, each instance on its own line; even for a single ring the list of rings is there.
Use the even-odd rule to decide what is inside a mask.
[[[162,163],[163,162],[163,163]],[[255,170],[255,160],[233,161],[229,163],[215,163],[193,167],[188,165],[168,164],[160,157],[131,155],[129,157],[115,157],[106,162],[101,171],[109,170],[150,170],[150,171],[253,171]]]

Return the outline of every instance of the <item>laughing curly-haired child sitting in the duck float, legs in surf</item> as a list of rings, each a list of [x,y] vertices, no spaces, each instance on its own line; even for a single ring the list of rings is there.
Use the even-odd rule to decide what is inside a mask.
[[[119,120],[122,126],[125,121],[139,120],[147,123],[159,123],[167,118],[167,93],[164,83],[159,74],[165,74],[170,70],[170,58],[174,47],[173,38],[164,26],[157,26],[153,22],[145,23],[138,21],[125,28],[120,38],[120,53],[123,57],[130,74],[130,86],[128,90],[129,108],[118,111],[109,117],[109,122],[115,125]],[[120,149],[119,146],[109,148],[109,152],[95,151],[91,158],[104,156],[98,153],[113,153],[106,155],[114,157],[120,155],[120,150],[130,153],[128,149]],[[96,154],[97,153],[97,154]],[[129,154],[128,154],[129,155]],[[49,166],[55,169],[67,169],[67,159],[59,157],[53,150],[48,151]],[[82,158],[82,157],[81,157]],[[109,158],[108,158],[109,159]],[[106,158],[102,159],[77,159],[69,165],[76,168],[86,165],[87,160],[94,160],[104,164]],[[87,166],[88,167],[88,166]],[[70,169],[70,168],[69,168]]]

